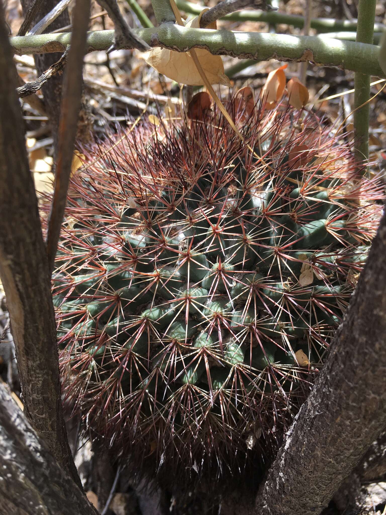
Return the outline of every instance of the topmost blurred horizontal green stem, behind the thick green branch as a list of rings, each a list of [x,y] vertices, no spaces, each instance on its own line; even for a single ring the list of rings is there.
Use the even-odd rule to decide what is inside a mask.
[[[372,1],[372,0],[371,0]],[[191,14],[200,14],[205,9],[204,5],[191,4],[185,2],[185,0],[176,0],[177,7],[184,12]],[[242,10],[227,14],[221,20],[231,20],[235,22],[267,22],[272,25],[277,23],[285,23],[286,25],[292,25],[293,27],[303,28],[304,18],[303,16],[294,16],[292,14],[285,14],[277,11],[258,11],[258,10]],[[347,20],[333,20],[329,18],[317,18],[311,20],[311,28],[317,29],[319,32],[331,32],[340,30],[357,30],[357,22]],[[381,32],[383,25],[377,23],[374,25],[374,30]]]

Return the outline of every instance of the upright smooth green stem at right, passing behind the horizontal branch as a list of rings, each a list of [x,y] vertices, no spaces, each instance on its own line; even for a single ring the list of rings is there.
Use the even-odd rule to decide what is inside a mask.
[[[359,0],[358,43],[373,44],[375,5],[376,0]],[[357,161],[369,159],[370,81],[370,74],[356,72],[354,79],[354,153]],[[363,104],[365,105],[360,107]]]

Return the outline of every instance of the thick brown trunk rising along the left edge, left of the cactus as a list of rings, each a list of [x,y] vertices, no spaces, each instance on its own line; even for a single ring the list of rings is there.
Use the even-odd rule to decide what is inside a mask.
[[[25,415],[47,440],[60,465],[81,486],[62,415],[50,273],[14,75],[0,2],[0,277]]]

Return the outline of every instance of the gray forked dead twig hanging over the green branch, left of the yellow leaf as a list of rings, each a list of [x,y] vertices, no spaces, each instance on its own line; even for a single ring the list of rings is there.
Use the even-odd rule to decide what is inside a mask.
[[[125,45],[131,45],[133,48],[138,48],[138,50],[142,50],[143,52],[150,50],[150,46],[145,43],[143,39],[139,38],[133,29],[128,26],[119,10],[116,0],[97,0],[97,2],[102,9],[108,12],[114,23],[114,42],[108,49],[108,54]]]

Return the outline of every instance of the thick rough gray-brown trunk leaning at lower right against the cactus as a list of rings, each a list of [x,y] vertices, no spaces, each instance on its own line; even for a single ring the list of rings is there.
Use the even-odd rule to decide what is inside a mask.
[[[256,515],[317,515],[386,425],[386,217]]]

